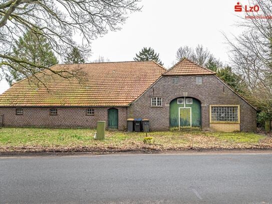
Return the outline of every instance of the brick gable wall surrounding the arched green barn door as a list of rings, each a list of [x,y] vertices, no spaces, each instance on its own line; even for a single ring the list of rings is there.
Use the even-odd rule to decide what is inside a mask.
[[[209,105],[240,105],[240,130],[256,131],[256,110],[233,93],[213,75],[204,75],[202,85],[195,76],[179,76],[177,85],[171,76],[162,77],[128,108],[128,117],[150,119],[151,130],[169,129],[169,103],[178,97],[193,97],[201,102],[201,126],[210,130]],[[151,107],[151,97],[162,97],[163,107]]]

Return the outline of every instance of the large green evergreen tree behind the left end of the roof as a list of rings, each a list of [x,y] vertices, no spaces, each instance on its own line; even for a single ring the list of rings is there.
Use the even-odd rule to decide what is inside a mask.
[[[52,67],[58,64],[58,59],[48,43],[47,39],[39,34],[36,30],[28,31],[23,37],[20,37],[13,46],[13,55],[17,59],[31,62],[35,65]],[[12,83],[29,77],[39,71],[38,67],[33,67],[25,63],[11,63],[9,69],[10,75],[6,80],[10,85]]]

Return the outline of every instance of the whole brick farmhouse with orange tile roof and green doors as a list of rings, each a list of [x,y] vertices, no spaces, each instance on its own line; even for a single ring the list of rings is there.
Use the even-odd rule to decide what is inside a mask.
[[[154,61],[60,64],[0,95],[0,125],[87,127],[99,120],[124,130],[148,118],[154,130],[255,131],[256,109],[214,72],[183,59],[166,70]],[[31,83],[39,78],[43,86]]]

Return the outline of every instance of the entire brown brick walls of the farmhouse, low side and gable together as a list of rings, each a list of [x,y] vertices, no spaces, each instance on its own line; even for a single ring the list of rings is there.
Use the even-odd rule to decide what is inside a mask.
[[[209,105],[240,105],[240,124],[227,125],[227,130],[256,131],[256,110],[231,91],[214,75],[202,75],[202,84],[195,83],[196,76],[179,76],[172,84],[172,76],[163,76],[129,107],[118,109],[118,129],[127,128],[127,118],[148,118],[150,130],[169,130],[169,104],[178,97],[193,97],[201,102],[202,130],[216,129],[209,122]],[[151,107],[151,97],[162,97],[162,107]],[[17,107],[0,107],[0,122],[13,127],[84,127],[96,128],[98,120],[108,125],[108,109],[93,107],[95,114],[86,115],[88,107],[55,107],[58,115],[50,115],[50,107],[22,107],[23,115],[16,115]],[[2,120],[2,121],[1,121]],[[1,123],[0,123],[1,126]],[[222,125],[219,125],[222,126]],[[218,127],[219,128],[219,127]],[[234,129],[233,129],[234,128]]]

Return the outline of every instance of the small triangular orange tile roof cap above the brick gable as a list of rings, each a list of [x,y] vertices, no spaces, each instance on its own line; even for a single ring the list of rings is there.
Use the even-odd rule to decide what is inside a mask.
[[[172,68],[170,68],[164,75],[209,75],[215,74],[207,68],[201,67],[194,62],[183,58]]]

